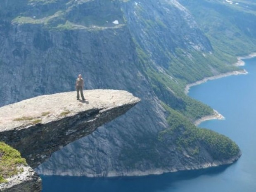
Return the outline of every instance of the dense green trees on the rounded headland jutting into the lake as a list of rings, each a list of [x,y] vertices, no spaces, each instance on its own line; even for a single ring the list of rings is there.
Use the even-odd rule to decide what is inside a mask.
[[[201,143],[207,146],[213,159],[216,160],[229,159],[239,154],[239,147],[228,137],[212,130],[197,128],[177,111],[164,107],[169,112],[167,121],[170,128],[159,132],[159,141],[166,142],[168,137],[172,136],[173,142],[179,150],[195,147],[189,151],[193,156],[199,154],[198,144]]]

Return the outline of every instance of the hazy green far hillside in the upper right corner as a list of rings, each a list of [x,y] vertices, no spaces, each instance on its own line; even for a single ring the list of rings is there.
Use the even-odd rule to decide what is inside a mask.
[[[221,1],[183,0],[183,4],[192,12],[218,56],[236,57],[256,51],[255,2],[244,0],[242,4],[230,5]]]

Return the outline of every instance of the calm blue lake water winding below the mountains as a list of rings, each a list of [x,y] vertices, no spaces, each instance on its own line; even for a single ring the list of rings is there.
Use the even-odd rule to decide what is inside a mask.
[[[245,60],[248,75],[194,86],[189,95],[220,114],[200,127],[227,135],[242,150],[231,166],[128,178],[42,176],[43,192],[256,192],[256,58]]]

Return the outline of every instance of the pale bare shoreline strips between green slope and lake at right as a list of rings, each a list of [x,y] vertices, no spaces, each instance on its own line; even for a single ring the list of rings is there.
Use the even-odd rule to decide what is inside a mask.
[[[251,59],[254,57],[256,57],[256,52],[253,52],[253,53],[251,53],[249,55],[245,55],[245,56],[239,56],[239,57],[237,57],[237,62],[235,62],[233,65],[234,66],[244,66],[245,62],[242,59]],[[245,69],[241,69],[239,71],[230,71],[227,73],[220,73],[216,76],[206,77],[200,81],[196,81],[194,83],[187,84],[184,92],[187,95],[189,93],[190,87],[195,86],[195,85],[200,85],[202,83],[206,83],[207,81],[210,81],[210,80],[215,80],[218,78],[228,77],[228,76],[232,76],[232,75],[246,75],[246,74],[248,74],[248,72]],[[213,109],[213,111],[214,112],[212,115],[207,115],[207,116],[204,116],[204,117],[194,121],[194,125],[198,126],[200,123],[202,123],[204,121],[213,120],[213,119],[218,119],[218,120],[225,119],[225,117],[223,115],[221,115],[220,113],[218,113],[218,111],[216,111],[214,109]]]

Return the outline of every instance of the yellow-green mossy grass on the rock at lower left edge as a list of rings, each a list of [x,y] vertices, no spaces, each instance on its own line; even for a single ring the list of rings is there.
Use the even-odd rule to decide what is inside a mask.
[[[26,160],[21,158],[20,152],[4,142],[0,142],[0,183],[5,183],[6,178],[23,171],[19,165],[26,165]]]

